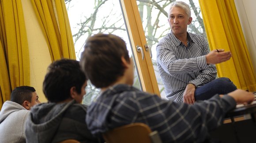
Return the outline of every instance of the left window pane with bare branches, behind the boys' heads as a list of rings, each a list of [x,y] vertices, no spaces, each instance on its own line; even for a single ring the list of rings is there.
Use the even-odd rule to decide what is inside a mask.
[[[80,60],[86,39],[97,33],[111,33],[122,37],[127,43],[130,57],[133,57],[119,0],[65,0],[65,3],[77,60]],[[136,71],[133,86],[141,89]],[[98,97],[100,90],[88,82],[86,91],[83,104],[89,105]]]

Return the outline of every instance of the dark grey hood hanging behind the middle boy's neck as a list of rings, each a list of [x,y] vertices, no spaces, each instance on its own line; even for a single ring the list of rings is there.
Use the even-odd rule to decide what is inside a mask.
[[[35,143],[50,143],[61,123],[63,115],[68,107],[75,103],[42,103],[35,105],[26,122],[26,137],[28,142],[38,140]],[[42,136],[47,136],[41,138]]]

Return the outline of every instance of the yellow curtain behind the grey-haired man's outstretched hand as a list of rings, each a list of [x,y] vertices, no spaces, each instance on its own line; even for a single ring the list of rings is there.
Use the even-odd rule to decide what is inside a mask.
[[[256,75],[248,54],[234,0],[199,0],[211,50],[225,49],[233,57],[217,64],[218,76],[237,88],[256,91]]]

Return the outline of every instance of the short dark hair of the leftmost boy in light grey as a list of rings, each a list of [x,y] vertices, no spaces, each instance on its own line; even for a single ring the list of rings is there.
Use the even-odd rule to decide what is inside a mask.
[[[24,101],[31,102],[32,93],[36,90],[34,87],[30,86],[19,86],[12,90],[11,92],[11,101],[16,102],[20,105],[23,104]]]

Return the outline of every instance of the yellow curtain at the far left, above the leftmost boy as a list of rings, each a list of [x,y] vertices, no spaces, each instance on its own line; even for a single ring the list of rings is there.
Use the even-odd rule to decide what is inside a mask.
[[[30,85],[29,49],[20,0],[0,0],[0,108],[16,86]]]

